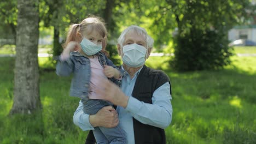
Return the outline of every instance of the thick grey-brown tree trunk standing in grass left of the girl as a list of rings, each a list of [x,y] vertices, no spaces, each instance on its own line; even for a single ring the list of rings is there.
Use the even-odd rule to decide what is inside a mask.
[[[10,115],[40,109],[38,68],[39,1],[18,1],[14,103]]]

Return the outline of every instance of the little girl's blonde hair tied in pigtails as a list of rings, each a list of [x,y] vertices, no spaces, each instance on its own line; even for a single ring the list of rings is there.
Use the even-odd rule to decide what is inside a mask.
[[[77,41],[80,43],[83,34],[90,34],[93,31],[97,31],[104,38],[102,42],[102,52],[104,52],[106,56],[109,56],[108,52],[105,50],[107,46],[107,29],[105,27],[105,22],[103,19],[96,16],[89,16],[81,23],[69,26],[66,41],[62,45],[63,49],[65,49],[70,41]]]

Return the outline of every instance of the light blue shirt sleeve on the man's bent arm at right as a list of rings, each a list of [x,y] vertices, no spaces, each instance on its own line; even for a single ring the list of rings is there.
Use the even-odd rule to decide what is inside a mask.
[[[139,122],[164,129],[172,121],[170,91],[170,84],[164,83],[153,93],[152,104],[130,97],[126,110]]]

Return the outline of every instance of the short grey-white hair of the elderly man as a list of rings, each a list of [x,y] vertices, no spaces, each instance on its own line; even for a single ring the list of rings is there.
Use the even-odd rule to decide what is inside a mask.
[[[153,44],[154,44],[154,40],[148,35],[147,31],[139,26],[135,26],[132,25],[130,27],[127,27],[120,35],[120,37],[118,38],[118,44],[123,47],[123,44],[125,42],[125,35],[127,33],[131,33],[131,32],[136,32],[139,35],[143,35],[143,37],[145,38],[146,44],[147,44],[147,49],[148,48],[153,48]]]

